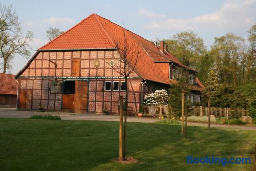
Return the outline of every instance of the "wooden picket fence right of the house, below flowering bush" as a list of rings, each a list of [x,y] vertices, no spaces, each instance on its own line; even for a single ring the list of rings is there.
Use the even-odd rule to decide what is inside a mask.
[[[172,118],[175,116],[170,105],[144,105],[145,116],[163,116],[165,118]],[[188,109],[188,116],[208,116],[208,107],[192,106]],[[247,110],[243,108],[220,108],[211,107],[211,115],[215,117],[242,117],[248,115]]]

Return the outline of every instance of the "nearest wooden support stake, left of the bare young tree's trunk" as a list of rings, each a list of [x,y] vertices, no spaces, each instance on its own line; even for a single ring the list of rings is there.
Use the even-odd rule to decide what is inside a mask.
[[[120,96],[120,122],[119,122],[119,162],[123,161],[123,96]]]

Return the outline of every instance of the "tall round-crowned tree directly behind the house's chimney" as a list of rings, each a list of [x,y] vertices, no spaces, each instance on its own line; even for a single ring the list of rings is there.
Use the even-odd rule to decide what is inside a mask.
[[[206,47],[204,41],[193,31],[184,31],[173,35],[168,43],[169,51],[182,63],[189,67],[198,69],[200,58],[205,55]]]

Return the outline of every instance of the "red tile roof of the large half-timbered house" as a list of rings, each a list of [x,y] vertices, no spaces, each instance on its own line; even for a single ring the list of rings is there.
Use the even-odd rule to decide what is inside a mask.
[[[42,46],[42,50],[68,50],[68,49],[114,49],[124,47],[124,34],[126,35],[127,45],[134,46],[133,51],[140,52],[140,61],[137,62],[135,72],[146,80],[170,84],[165,74],[159,69],[155,62],[174,62],[177,65],[189,68],[183,65],[170,52],[160,51],[151,41],[127,30],[123,27],[105,19],[97,14],[92,14],[80,23],[62,33],[48,44]],[[130,57],[131,58],[131,57]],[[131,62],[135,65],[135,59]],[[26,68],[26,67],[25,67]],[[196,72],[194,69],[189,68]],[[16,77],[21,74],[20,71]]]

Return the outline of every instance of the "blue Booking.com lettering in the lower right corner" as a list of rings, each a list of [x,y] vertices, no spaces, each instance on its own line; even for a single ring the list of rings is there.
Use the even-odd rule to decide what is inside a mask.
[[[187,156],[187,164],[221,164],[225,166],[227,164],[251,164],[250,157],[194,157]]]

